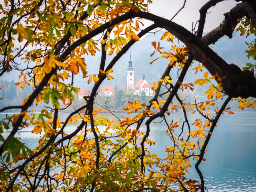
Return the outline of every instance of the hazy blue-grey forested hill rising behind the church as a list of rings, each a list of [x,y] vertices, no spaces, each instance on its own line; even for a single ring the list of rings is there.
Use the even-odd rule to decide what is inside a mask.
[[[150,65],[150,62],[152,60],[160,56],[156,52],[152,57],[150,57],[150,54],[152,54],[153,51],[155,51],[154,47],[151,45],[151,42],[160,42],[160,46],[164,47],[166,51],[168,51],[171,48],[172,44],[182,45],[182,43],[178,42],[177,40],[174,40],[174,43],[166,42],[165,40],[161,41],[160,38],[163,33],[164,31],[159,31],[157,33],[149,33],[146,35],[146,37],[136,42],[131,47],[130,51],[126,52],[124,56],[122,56],[117,62],[117,64],[114,66],[114,79],[111,81],[105,81],[104,85],[111,85],[112,87],[115,87],[115,85],[117,85],[121,89],[125,89],[126,71],[128,68],[130,54],[132,56],[133,70],[135,71],[135,83],[142,78],[143,73],[146,75],[146,79],[151,86],[153,85],[153,82],[158,81],[159,77],[162,74],[163,68],[165,69],[168,64],[168,60],[160,58]],[[227,62],[238,64],[240,67],[245,66],[245,63],[250,62],[250,60],[246,58],[245,53],[247,45],[245,44],[245,42],[237,41],[237,39],[240,37],[239,32],[234,32],[233,36],[234,37],[232,39],[229,39],[227,36],[224,36],[211,47],[213,47],[213,50],[217,52],[224,60],[227,60]],[[245,41],[252,42],[254,41],[254,37],[249,36],[248,38],[245,38]],[[106,64],[108,64],[112,58],[113,56],[108,56]],[[88,74],[97,74],[98,69],[94,66],[96,66],[96,64],[100,62],[100,58],[97,56],[86,57],[85,61],[88,66]],[[195,63],[194,65],[197,64]],[[200,74],[195,75],[194,72],[192,71],[190,71],[189,73],[190,75],[186,77],[189,77],[190,81],[195,80],[200,76]],[[175,78],[175,76],[177,76],[176,72],[173,73],[173,78]],[[81,77],[77,76],[76,78],[79,79]],[[81,89],[90,89],[92,86],[87,85],[87,79],[82,80],[81,78],[79,81],[75,82],[79,83],[76,86],[80,87]]]

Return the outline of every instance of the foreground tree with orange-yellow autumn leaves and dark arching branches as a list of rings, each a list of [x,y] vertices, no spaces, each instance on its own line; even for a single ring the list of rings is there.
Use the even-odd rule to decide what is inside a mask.
[[[0,109],[3,113],[8,109],[20,111],[0,120],[0,191],[204,191],[199,164],[205,160],[220,115],[232,114],[227,106],[230,100],[238,100],[240,109],[256,105],[256,66],[246,63],[240,69],[229,65],[209,47],[224,35],[231,38],[234,30],[255,35],[256,4],[238,3],[225,14],[218,30],[202,36],[206,13],[216,2],[220,1],[205,3],[198,25],[188,31],[150,14],[147,6],[151,0],[5,0],[0,5],[0,76],[20,70],[16,86],[32,86],[33,92],[20,105]],[[145,20],[154,23],[143,26]],[[108,108],[94,110],[101,83],[113,79],[118,59],[152,30],[162,37],[151,43],[155,51],[149,65],[159,58],[166,61],[166,69],[152,87],[155,95],[149,103],[129,101],[123,108],[129,117],[117,121],[104,118],[102,112],[112,113]],[[184,46],[175,45],[175,38]],[[171,48],[161,47],[160,40],[169,42]],[[248,57],[255,60],[255,42],[247,45]],[[109,63],[107,54],[114,55]],[[97,74],[87,72],[88,55],[101,55]],[[183,83],[189,68],[201,73],[201,78]],[[171,70],[177,70],[177,77],[170,76]],[[60,119],[62,104],[70,107],[78,94],[79,87],[74,87],[78,74],[85,83],[93,84],[91,95],[66,119]],[[195,86],[205,88],[208,100],[185,103],[179,92],[193,91]],[[174,99],[181,106],[183,123],[168,121],[170,112],[178,110]],[[221,107],[215,107],[216,102],[221,102]],[[51,107],[36,114],[32,104]],[[201,118],[189,122],[190,112]],[[155,144],[148,136],[156,118],[166,123],[170,139],[164,159],[146,147]],[[76,124],[75,129],[68,132],[71,123]],[[142,125],[146,131],[141,131]],[[31,126],[33,134],[41,134],[34,149],[22,143],[18,135]],[[8,136],[3,137],[7,130]],[[186,174],[193,159],[199,181]]]

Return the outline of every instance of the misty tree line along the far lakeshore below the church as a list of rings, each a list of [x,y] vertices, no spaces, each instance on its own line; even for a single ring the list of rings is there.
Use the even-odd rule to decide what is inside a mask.
[[[14,80],[7,81],[7,80],[1,80],[0,81],[0,107],[6,107],[9,105],[19,105],[29,94],[29,92],[32,90],[32,87],[25,86],[24,89],[21,89],[19,86],[15,85],[16,82]],[[193,95],[193,92],[189,92],[189,90],[185,90],[182,95],[180,95],[180,98],[184,100],[186,103],[192,103],[194,100],[197,102],[201,102],[201,100],[205,100],[204,96],[204,89],[202,87],[195,87],[197,89],[197,95]],[[134,101],[134,100],[140,100],[143,103],[148,104],[152,97],[147,97],[145,92],[141,94],[141,96],[133,95],[131,92],[126,92],[125,90],[122,90],[120,87],[115,86],[115,94],[111,97],[107,96],[96,96],[95,99],[95,109],[102,109],[103,107],[108,107],[110,110],[114,110],[116,112],[122,112],[123,108],[128,105],[128,101]],[[165,89],[162,89],[161,92],[165,92]],[[75,99],[71,104],[72,109],[77,109],[81,104],[83,104],[85,101],[83,99],[79,99],[78,95],[74,96]],[[166,98],[163,98],[166,99]],[[178,101],[174,101],[174,105],[177,105],[178,109],[181,109],[181,106]],[[51,102],[50,102],[51,103]],[[99,105],[98,105],[99,104]],[[218,103],[217,103],[218,105]],[[231,108],[236,108],[238,105],[238,101],[230,102]],[[31,106],[30,110],[34,111],[41,111],[42,109],[47,108],[49,105],[40,105],[37,106],[34,104]],[[63,112],[69,113],[72,112],[71,108],[64,109],[64,104],[62,105]],[[245,110],[255,110],[254,108],[249,108]],[[10,112],[15,112],[14,109],[9,109]]]

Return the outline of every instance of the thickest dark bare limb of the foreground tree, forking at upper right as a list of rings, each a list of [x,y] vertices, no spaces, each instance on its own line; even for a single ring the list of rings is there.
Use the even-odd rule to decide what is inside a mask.
[[[218,38],[222,37],[224,34],[230,36],[229,31],[234,30],[234,25],[237,24],[236,20],[241,16],[247,15],[247,10],[249,10],[248,6],[251,7],[247,2],[236,5],[229,13],[225,14],[226,20],[223,21],[223,25],[215,29],[213,33],[215,33]],[[250,10],[253,11],[254,9],[251,7]],[[165,28],[184,42],[193,53],[195,60],[201,62],[212,75],[218,74],[223,78],[225,77],[223,80],[223,89],[229,96],[241,96],[243,98],[249,96],[256,97],[256,79],[252,77],[253,74],[249,71],[242,71],[238,67],[233,67],[233,65],[228,65],[225,60],[207,46],[209,42],[217,41],[215,35],[211,37],[211,32],[203,39],[200,39],[172,21],[142,11],[138,11],[136,14],[137,16],[154,21],[159,27]],[[253,15],[253,13],[251,13],[251,15]],[[205,44],[205,42],[207,44]],[[236,80],[238,76],[240,77],[240,81]]]

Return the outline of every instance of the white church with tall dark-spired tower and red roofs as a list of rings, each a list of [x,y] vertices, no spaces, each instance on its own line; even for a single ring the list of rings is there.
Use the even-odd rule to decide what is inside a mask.
[[[127,79],[126,79],[127,92],[132,92],[133,95],[144,95],[147,97],[154,96],[154,91],[146,80],[145,74],[136,84],[134,84],[134,70],[132,68],[132,58],[130,54],[130,60],[128,62]]]

